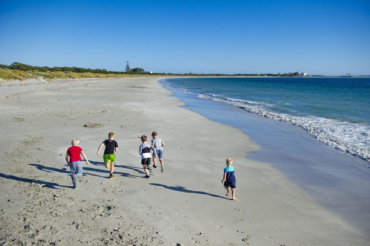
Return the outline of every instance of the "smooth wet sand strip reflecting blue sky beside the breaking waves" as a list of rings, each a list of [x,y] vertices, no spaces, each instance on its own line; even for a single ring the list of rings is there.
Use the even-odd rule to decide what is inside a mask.
[[[164,85],[186,103],[183,107],[242,130],[261,146],[261,150],[246,155],[249,159],[269,163],[320,205],[369,235],[370,193],[366,187],[370,173],[366,161],[343,151],[337,153],[300,127]]]

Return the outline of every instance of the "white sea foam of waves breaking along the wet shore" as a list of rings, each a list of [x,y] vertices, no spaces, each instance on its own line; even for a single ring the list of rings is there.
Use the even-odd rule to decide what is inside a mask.
[[[163,83],[175,87],[165,80]],[[302,127],[311,136],[337,150],[344,151],[370,163],[370,126],[336,119],[326,119],[315,116],[293,116],[282,113],[269,112],[266,108],[273,105],[265,102],[254,102],[234,98],[215,98],[211,93],[197,93],[179,88],[183,92],[192,93],[199,98],[210,99],[216,102],[227,103],[255,115],[273,120],[279,120]],[[222,96],[222,95],[217,95]],[[370,167],[370,165],[368,165]]]

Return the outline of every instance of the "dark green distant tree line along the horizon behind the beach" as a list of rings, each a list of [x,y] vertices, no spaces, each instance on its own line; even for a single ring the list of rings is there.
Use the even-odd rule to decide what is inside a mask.
[[[91,68],[77,68],[75,66],[68,67],[68,66],[54,66],[52,68],[48,66],[31,66],[26,65],[20,62],[13,62],[11,65],[4,65],[0,64],[0,68],[8,68],[13,70],[21,70],[21,71],[30,71],[30,70],[37,70],[40,72],[47,72],[47,71],[61,71],[61,72],[75,72],[75,73],[85,73],[90,72],[93,74],[145,74],[145,70],[143,68],[130,68],[129,63],[126,62],[125,71],[107,71],[107,69],[91,69]],[[173,76],[297,76],[299,72],[293,73],[285,73],[285,74],[173,74],[173,73],[152,73],[152,75],[173,75]]]

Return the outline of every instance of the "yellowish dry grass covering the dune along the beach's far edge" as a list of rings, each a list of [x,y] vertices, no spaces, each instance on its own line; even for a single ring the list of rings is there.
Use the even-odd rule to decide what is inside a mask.
[[[71,78],[71,79],[81,79],[81,78],[122,78],[122,77],[148,77],[148,76],[158,76],[158,75],[147,75],[147,74],[93,74],[93,73],[75,73],[75,72],[40,72],[37,70],[32,71],[20,71],[12,69],[0,69],[0,79],[10,80],[19,79],[24,80],[28,78],[43,78],[47,81],[51,79],[58,78]]]

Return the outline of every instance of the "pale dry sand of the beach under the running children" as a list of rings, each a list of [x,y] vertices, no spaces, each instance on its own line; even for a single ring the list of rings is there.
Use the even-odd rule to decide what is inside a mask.
[[[179,106],[158,78],[0,85],[0,245],[370,245],[270,165],[242,131]],[[97,157],[114,131],[115,178]],[[139,136],[165,142],[165,172],[143,178]],[[64,155],[87,158],[71,189]],[[234,160],[236,198],[221,184]],[[248,157],[248,154],[247,154]]]

